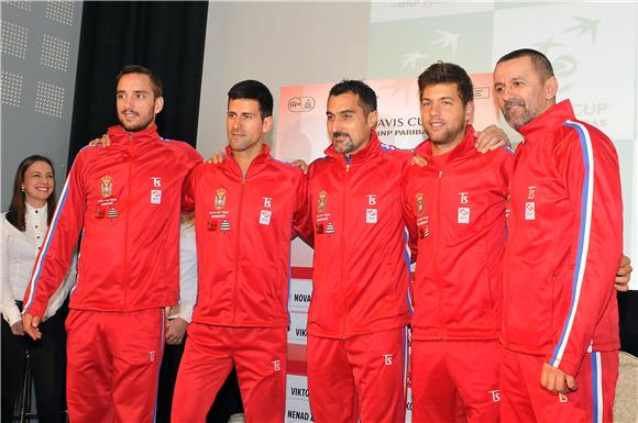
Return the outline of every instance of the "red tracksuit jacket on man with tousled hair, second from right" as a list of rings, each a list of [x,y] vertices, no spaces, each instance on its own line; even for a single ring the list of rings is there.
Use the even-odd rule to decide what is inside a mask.
[[[404,178],[406,220],[418,237],[413,338],[497,339],[513,153],[479,153],[472,126],[443,156],[432,156],[429,141],[415,153],[428,166]]]

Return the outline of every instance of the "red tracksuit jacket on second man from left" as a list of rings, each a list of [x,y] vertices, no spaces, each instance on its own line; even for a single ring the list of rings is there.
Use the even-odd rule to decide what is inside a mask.
[[[267,145],[242,176],[227,147],[220,165],[188,177],[195,207],[198,291],[193,321],[235,327],[288,325],[290,241],[308,220],[307,178]]]

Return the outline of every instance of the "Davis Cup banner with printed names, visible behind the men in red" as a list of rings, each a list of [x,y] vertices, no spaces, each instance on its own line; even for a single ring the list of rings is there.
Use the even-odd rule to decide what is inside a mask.
[[[492,74],[472,75],[474,84],[474,127],[483,130],[498,122],[492,94]],[[416,79],[366,81],[377,94],[378,124],[383,143],[414,148],[426,137],[421,127],[419,93]],[[326,130],[326,104],[332,84],[283,87],[279,96],[275,155],[282,160],[301,158],[307,163],[323,156],[330,140]],[[288,383],[286,422],[312,421],[308,401],[306,372],[306,322],[312,294],[312,249],[296,240],[293,243],[290,269],[290,329],[288,331]],[[406,421],[411,420],[408,365],[408,402]]]

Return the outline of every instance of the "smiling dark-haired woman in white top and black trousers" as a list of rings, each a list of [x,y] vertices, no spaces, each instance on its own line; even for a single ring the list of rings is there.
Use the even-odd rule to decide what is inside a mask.
[[[0,215],[0,278],[2,283],[2,422],[12,422],[15,400],[22,391],[26,354],[35,388],[37,420],[66,421],[65,299],[75,280],[75,264],[65,283],[51,298],[40,341],[24,336],[20,312],[24,291],[46,230],[55,211],[53,164],[43,156],[26,157],[15,172],[9,211]]]

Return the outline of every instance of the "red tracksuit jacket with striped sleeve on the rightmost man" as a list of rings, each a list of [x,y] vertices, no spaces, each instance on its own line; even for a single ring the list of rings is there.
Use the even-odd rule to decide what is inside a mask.
[[[519,132],[525,138],[510,179],[502,341],[546,355],[574,376],[590,346],[619,347],[618,159],[605,134],[575,120],[569,100]]]

